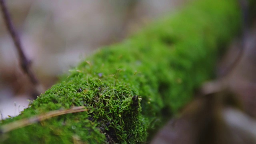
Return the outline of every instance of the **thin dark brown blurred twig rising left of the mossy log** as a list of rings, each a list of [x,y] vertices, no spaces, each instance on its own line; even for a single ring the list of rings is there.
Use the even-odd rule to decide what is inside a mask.
[[[36,91],[37,91],[37,95],[39,95],[40,93],[42,93],[44,91],[44,88],[42,87],[42,85],[39,83],[38,79],[36,78],[36,76],[34,75],[34,73],[32,72],[30,65],[31,65],[31,60],[29,60],[26,55],[23,52],[23,48],[22,45],[20,43],[20,38],[16,32],[16,30],[14,29],[14,25],[12,23],[12,20],[10,18],[10,14],[7,10],[6,7],[6,3],[4,0],[0,0],[0,6],[1,6],[1,10],[2,10],[2,14],[4,17],[4,22],[6,24],[6,27],[10,33],[10,35],[12,36],[12,40],[15,44],[15,47],[18,51],[19,57],[20,57],[20,66],[22,68],[22,70],[28,74],[28,77],[30,78],[30,81],[32,82],[32,84],[34,84]]]

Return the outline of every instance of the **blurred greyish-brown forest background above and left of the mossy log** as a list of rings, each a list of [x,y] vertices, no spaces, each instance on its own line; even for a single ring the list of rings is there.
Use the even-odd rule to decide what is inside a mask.
[[[24,52],[45,89],[86,56],[120,42],[186,0],[6,0]],[[0,112],[18,115],[34,90],[0,18]]]

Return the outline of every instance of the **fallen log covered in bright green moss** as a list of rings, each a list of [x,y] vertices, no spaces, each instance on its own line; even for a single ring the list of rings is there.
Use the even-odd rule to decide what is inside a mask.
[[[196,0],[120,44],[98,50],[17,117],[85,106],[2,134],[2,143],[142,143],[212,78],[240,29],[237,0]]]

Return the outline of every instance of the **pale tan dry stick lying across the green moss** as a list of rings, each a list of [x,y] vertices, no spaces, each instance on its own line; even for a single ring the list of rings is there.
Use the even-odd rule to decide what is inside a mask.
[[[52,118],[54,116],[60,116],[63,114],[69,114],[74,112],[85,112],[85,111],[87,111],[87,109],[84,106],[76,106],[68,110],[54,110],[46,114],[41,114],[39,116],[34,116],[32,118],[18,120],[18,121],[11,122],[9,124],[5,124],[0,127],[0,133],[6,133],[18,128],[23,128],[25,126],[34,124],[36,122],[41,122],[43,120]]]

